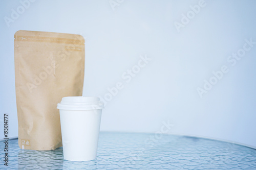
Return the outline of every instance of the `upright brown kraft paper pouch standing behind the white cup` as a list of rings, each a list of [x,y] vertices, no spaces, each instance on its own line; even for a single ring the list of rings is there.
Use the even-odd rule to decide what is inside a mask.
[[[82,95],[83,37],[17,31],[14,60],[19,147],[28,150],[61,147],[56,107],[62,97]]]

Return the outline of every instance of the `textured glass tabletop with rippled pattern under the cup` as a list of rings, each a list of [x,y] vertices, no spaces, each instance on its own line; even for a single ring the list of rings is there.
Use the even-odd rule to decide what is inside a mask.
[[[62,147],[21,150],[14,139],[8,148],[9,169],[256,169],[255,149],[167,134],[100,132],[97,158],[84,162],[63,160]]]

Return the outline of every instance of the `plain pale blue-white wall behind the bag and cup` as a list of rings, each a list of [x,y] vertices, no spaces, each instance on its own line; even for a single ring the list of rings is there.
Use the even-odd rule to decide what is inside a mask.
[[[9,114],[10,135],[17,136],[13,35],[31,30],[86,38],[84,95],[110,100],[102,131],[157,132],[169,122],[174,126],[167,133],[256,148],[256,44],[245,45],[248,51],[236,63],[229,58],[244,52],[245,39],[256,42],[256,2],[113,1],[118,6],[112,8],[109,0],[37,0],[9,27],[4,17],[12,18],[12,9],[26,0],[0,2],[0,113],[1,118]],[[190,6],[198,4],[200,11],[191,12]],[[190,15],[189,22],[182,14]],[[177,29],[175,23],[182,21]],[[126,82],[125,71],[136,70],[145,55],[151,61]],[[214,81],[212,71],[222,66],[228,72],[200,98],[197,88],[203,89],[204,80]],[[110,98],[108,88],[117,82],[123,88]]]

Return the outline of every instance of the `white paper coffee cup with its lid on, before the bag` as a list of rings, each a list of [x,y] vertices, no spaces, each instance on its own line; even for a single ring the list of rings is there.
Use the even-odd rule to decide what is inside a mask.
[[[71,96],[58,103],[64,159],[96,158],[102,108],[96,97]]]

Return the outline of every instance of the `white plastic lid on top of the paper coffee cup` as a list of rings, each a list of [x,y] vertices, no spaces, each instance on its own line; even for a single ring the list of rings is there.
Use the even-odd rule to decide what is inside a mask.
[[[103,103],[99,98],[84,96],[64,97],[57,105],[57,109],[61,110],[95,110],[103,108]]]

